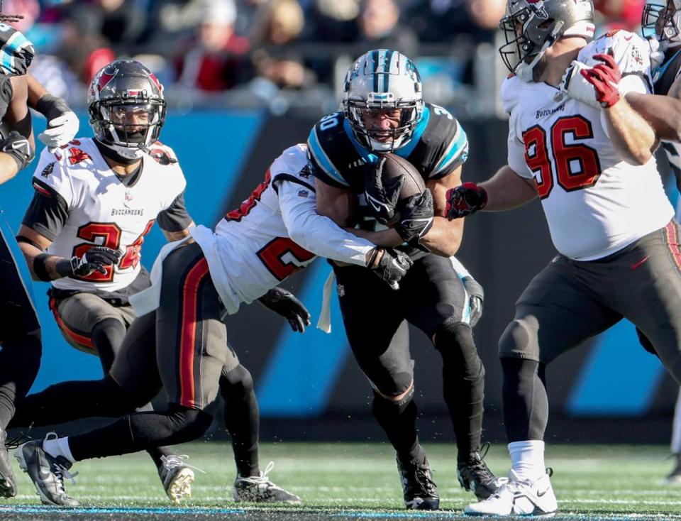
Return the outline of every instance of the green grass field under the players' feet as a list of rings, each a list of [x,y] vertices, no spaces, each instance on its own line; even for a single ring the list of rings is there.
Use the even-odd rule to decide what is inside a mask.
[[[77,484],[67,482],[67,490],[82,503],[74,510],[36,508],[40,501],[33,485],[15,466],[20,493],[1,501],[0,520],[465,518],[461,512],[473,496],[459,487],[452,447],[426,445],[426,451],[442,498],[441,512],[402,508],[394,454],[377,444],[262,444],[261,467],[275,461],[272,481],[297,493],[304,505],[273,509],[236,504],[229,491],[235,474],[231,448],[211,442],[182,446],[191,456],[189,462],[206,473],[196,473],[194,495],[181,508],[165,498],[148,456],[134,454],[74,466]],[[549,446],[546,462],[554,469],[560,506],[554,519],[681,520],[681,487],[662,483],[672,466],[667,455],[663,446]],[[494,473],[505,475],[505,446],[493,446],[487,461]]]

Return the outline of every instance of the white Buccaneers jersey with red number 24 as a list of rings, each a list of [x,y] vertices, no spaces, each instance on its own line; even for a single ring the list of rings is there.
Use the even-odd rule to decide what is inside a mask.
[[[160,143],[152,147],[156,158],[174,158]],[[48,253],[71,258],[92,246],[121,251],[121,260],[106,273],[94,271],[82,278],[60,278],[52,285],[62,290],[116,291],[128,286],[140,271],[144,236],[163,210],[170,207],[187,184],[177,161],[143,155],[137,179],[126,186],[109,168],[92,138],[79,138],[50,153],[40,154],[33,187],[48,196],[58,194],[68,217]]]

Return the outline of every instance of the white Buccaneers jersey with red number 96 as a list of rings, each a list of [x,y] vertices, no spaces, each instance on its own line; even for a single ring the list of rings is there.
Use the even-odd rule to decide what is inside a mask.
[[[621,86],[649,93],[649,47],[638,35],[611,31],[580,50],[577,60],[614,53]],[[509,166],[533,178],[551,238],[579,261],[608,256],[660,229],[673,215],[655,158],[633,166],[608,136],[603,111],[546,83],[510,76],[502,84],[509,119]]]

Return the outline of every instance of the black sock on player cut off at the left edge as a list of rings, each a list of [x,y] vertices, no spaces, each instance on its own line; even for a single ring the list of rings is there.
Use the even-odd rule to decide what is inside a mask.
[[[23,407],[40,368],[43,346],[40,331],[2,342],[0,351],[0,428],[7,429]]]

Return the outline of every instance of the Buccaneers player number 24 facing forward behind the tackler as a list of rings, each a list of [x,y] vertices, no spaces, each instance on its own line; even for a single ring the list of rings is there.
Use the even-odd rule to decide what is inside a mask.
[[[153,73],[134,60],[116,60],[94,77],[87,101],[95,137],[43,150],[18,241],[35,279],[52,284],[50,309],[67,342],[99,356],[107,374],[135,318],[128,297],[150,285],[140,263],[145,235],[158,221],[175,241],[189,235],[193,222],[182,169],[157,141],[165,100]],[[259,476],[253,381],[236,356],[228,369],[223,395],[238,472]],[[64,404],[78,410],[79,394],[72,393],[63,383],[32,396],[12,427],[49,423],[45,411],[53,415]],[[148,451],[168,497],[178,503],[189,496],[194,472],[184,456],[167,447]]]

